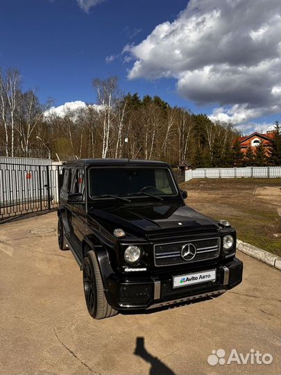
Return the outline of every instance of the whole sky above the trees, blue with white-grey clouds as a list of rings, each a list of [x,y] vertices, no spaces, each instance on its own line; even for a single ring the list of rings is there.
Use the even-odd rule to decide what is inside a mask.
[[[280,121],[280,0],[2,0],[0,67],[54,106],[96,101],[92,78],[122,92],[232,122]]]

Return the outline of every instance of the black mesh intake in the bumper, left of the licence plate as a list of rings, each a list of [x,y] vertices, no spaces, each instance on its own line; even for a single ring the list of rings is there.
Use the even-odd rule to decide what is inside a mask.
[[[119,304],[120,305],[142,305],[153,298],[153,283],[150,284],[120,284]]]

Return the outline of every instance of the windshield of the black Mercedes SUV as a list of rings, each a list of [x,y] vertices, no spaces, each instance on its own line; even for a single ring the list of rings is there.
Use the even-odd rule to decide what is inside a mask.
[[[167,168],[92,168],[90,196],[112,194],[121,197],[177,194]]]

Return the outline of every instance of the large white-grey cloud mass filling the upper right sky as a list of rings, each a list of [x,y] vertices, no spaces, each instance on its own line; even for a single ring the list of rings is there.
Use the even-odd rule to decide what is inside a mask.
[[[135,59],[128,78],[176,78],[182,97],[218,107],[213,119],[239,124],[277,113],[280,20],[280,0],[190,0],[174,22],[124,47]]]

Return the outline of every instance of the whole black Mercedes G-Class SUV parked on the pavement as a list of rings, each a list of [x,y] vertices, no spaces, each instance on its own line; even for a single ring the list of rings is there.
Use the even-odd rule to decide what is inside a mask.
[[[185,198],[167,163],[65,163],[58,243],[83,270],[92,317],[217,297],[241,283],[235,229]]]

